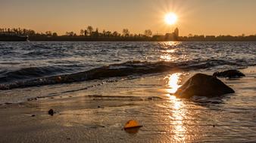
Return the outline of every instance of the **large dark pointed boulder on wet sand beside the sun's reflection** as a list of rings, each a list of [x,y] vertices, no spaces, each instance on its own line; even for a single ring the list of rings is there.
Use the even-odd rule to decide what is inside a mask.
[[[188,99],[192,96],[214,97],[226,93],[235,93],[235,91],[214,76],[195,74],[174,95]]]

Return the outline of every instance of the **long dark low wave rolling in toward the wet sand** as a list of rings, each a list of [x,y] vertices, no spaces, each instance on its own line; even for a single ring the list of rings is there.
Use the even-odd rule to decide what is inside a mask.
[[[141,61],[129,61],[119,64],[112,64],[108,66],[102,66],[99,68],[93,68],[88,71],[82,71],[67,75],[50,76],[46,78],[39,78],[48,73],[55,71],[61,71],[63,69],[50,67],[50,68],[22,68],[18,71],[10,71],[7,76],[0,78],[0,81],[8,81],[19,78],[35,79],[16,81],[11,84],[0,84],[0,90],[11,90],[20,87],[35,87],[39,85],[48,84],[67,84],[79,81],[91,81],[104,78],[124,77],[129,75],[146,75],[161,73],[170,70],[196,70],[203,68],[211,68],[217,65],[236,65],[242,66],[237,62],[227,62],[219,59],[205,59],[203,61],[184,61],[184,62],[141,62]],[[1,83],[1,82],[0,82]]]

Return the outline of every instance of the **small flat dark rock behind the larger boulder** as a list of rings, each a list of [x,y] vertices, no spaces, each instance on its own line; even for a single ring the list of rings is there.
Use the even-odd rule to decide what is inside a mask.
[[[221,72],[214,72],[214,77],[222,77],[222,78],[241,78],[245,77],[245,75],[238,70],[227,70]]]

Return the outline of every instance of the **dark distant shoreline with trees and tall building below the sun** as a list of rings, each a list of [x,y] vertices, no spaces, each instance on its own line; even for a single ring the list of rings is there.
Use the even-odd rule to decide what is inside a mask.
[[[192,35],[180,36],[179,29],[165,35],[153,35],[150,29],[144,34],[131,34],[128,29],[123,29],[123,34],[118,32],[99,32],[92,26],[81,29],[80,35],[75,32],[66,32],[66,35],[58,35],[56,32],[35,32],[32,29],[0,29],[0,41],[12,41],[12,37],[28,37],[29,41],[256,41],[256,35]],[[14,41],[14,40],[13,40]]]

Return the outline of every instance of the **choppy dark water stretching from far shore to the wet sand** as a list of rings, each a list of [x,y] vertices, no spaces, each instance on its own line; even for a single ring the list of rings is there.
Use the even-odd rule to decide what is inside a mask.
[[[256,64],[255,49],[256,42],[1,42],[0,84],[70,75],[117,63],[111,68],[125,68],[124,71],[127,67],[148,68],[154,72],[171,68],[244,68]],[[133,75],[134,70],[125,75]],[[102,77],[93,75],[91,79],[98,78]],[[89,79],[81,78],[85,80]],[[47,82],[43,84],[53,82],[44,81]],[[71,81],[77,80],[72,78],[61,83]],[[26,84],[25,87],[30,86]]]

